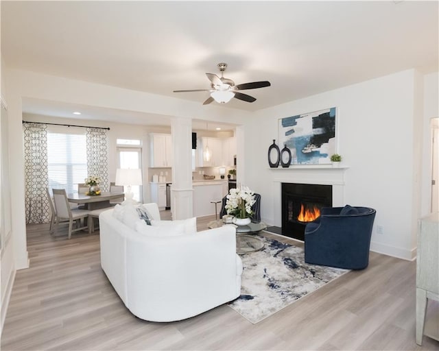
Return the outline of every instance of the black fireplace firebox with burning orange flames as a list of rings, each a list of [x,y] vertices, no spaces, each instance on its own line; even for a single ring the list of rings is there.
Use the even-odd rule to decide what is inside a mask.
[[[282,183],[282,234],[305,240],[305,226],[332,206],[332,185]]]

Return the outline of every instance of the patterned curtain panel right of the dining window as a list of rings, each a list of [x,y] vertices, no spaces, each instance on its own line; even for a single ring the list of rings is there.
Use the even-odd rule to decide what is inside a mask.
[[[87,176],[101,178],[101,191],[108,191],[107,130],[87,128]]]

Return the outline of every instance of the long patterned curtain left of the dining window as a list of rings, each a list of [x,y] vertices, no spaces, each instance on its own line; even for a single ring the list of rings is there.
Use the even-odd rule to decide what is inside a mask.
[[[51,213],[46,193],[49,184],[47,173],[47,125],[23,123],[23,133],[26,223],[48,223]]]

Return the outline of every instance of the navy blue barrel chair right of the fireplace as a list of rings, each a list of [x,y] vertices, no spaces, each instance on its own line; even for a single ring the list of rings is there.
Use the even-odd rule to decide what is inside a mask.
[[[375,211],[368,207],[322,208],[305,228],[305,262],[346,269],[369,264]]]

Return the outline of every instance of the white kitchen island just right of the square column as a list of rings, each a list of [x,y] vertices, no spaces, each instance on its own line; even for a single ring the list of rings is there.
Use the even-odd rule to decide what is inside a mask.
[[[215,215],[215,204],[211,201],[221,201],[228,193],[227,180],[194,180],[193,187],[193,217]],[[217,205],[217,212],[221,204]]]

